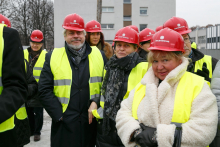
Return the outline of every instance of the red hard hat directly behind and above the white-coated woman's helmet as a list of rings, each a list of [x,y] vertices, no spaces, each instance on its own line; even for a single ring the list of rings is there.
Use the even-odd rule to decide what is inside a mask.
[[[172,17],[163,24],[163,28],[170,28],[177,31],[181,35],[190,33],[192,30],[189,29],[187,22],[179,17]]]

